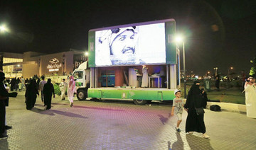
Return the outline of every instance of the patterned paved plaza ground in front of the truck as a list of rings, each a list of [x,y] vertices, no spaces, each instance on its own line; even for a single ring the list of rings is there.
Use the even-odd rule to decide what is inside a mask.
[[[9,137],[0,139],[0,149],[256,149],[256,120],[245,114],[206,110],[210,139],[174,129],[171,103],[134,105],[130,100],[68,100],[53,98],[51,110],[36,106],[26,110],[24,91],[10,98],[6,108]]]

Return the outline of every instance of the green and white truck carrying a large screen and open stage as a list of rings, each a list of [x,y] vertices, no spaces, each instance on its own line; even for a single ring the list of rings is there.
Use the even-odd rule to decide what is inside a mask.
[[[180,83],[175,25],[166,19],[90,30],[88,61],[73,71],[78,100],[173,100]]]

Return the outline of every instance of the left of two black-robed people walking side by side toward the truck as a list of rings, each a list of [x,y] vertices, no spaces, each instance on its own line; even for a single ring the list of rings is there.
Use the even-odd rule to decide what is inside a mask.
[[[36,79],[32,79],[26,88],[25,98],[26,98],[26,109],[31,110],[36,103],[36,94],[39,96],[38,90],[36,88]]]

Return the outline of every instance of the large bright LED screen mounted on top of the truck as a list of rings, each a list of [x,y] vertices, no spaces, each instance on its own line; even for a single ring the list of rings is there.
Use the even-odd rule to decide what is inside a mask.
[[[164,23],[95,31],[95,66],[165,64]]]

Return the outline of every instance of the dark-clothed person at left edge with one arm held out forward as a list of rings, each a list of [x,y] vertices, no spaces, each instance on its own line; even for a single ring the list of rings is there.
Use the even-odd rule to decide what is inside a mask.
[[[5,117],[6,117],[6,104],[5,100],[8,97],[16,97],[17,93],[8,93],[4,86],[5,74],[0,71],[0,139],[6,138],[8,135],[6,134],[6,125],[5,125]]]

